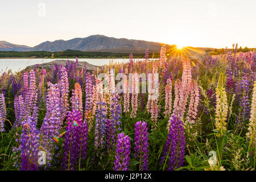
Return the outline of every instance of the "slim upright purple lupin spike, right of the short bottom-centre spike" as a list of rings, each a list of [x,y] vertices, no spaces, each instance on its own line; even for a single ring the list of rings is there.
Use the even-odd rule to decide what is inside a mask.
[[[148,137],[147,123],[138,121],[135,123],[135,158],[139,158],[139,170],[147,171],[148,166]]]

